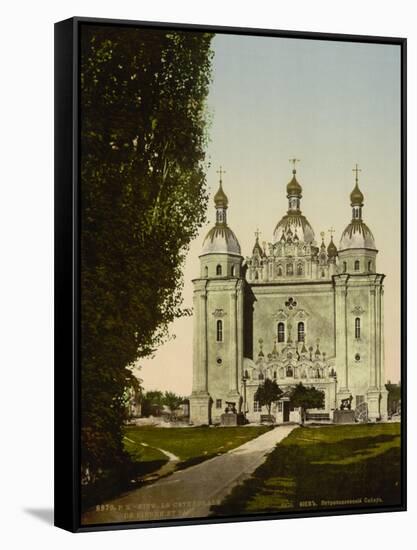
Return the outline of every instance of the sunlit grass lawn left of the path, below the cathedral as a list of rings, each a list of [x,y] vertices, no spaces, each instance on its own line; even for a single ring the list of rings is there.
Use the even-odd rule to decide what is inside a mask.
[[[155,428],[127,426],[124,444],[133,460],[142,464],[168,460],[158,451],[164,449],[180,459],[179,468],[185,468],[226,453],[246,441],[270,430],[269,426],[231,428]],[[146,443],[149,447],[143,446]]]

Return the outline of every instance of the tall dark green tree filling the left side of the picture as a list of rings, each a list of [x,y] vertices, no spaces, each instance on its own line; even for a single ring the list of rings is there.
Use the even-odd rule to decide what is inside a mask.
[[[182,308],[182,267],[205,220],[212,35],[83,26],[81,422],[90,477],[126,460],[128,368]]]

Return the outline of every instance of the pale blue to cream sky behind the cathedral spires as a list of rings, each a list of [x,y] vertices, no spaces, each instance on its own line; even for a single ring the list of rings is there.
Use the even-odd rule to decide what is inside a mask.
[[[352,169],[362,172],[363,219],[374,234],[377,271],[385,273],[386,378],[400,378],[400,47],[218,34],[213,40],[207,160],[207,224],[184,267],[184,306],[199,274],[204,237],[214,225],[218,170],[226,171],[228,223],[248,256],[259,228],[270,242],[286,213],[289,159],[300,159],[301,209],[320,239],[336,246],[351,220]],[[192,389],[192,317],[176,320],[171,339],[140,361],[145,389]]]

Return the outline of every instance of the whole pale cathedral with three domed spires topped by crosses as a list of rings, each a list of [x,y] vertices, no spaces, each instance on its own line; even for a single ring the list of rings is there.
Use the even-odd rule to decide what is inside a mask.
[[[283,391],[271,413],[277,422],[299,420],[290,403],[302,382],[324,393],[322,409],[307,418],[331,421],[342,403],[370,420],[386,418],[384,275],[377,271],[373,234],[363,221],[364,195],[350,194],[352,219],[338,248],[316,236],[302,214],[302,187],[286,187],[288,210],[272,242],[256,233],[250,256],[227,224],[229,200],[214,196],[216,223],[203,242],[200,275],[193,280],[193,390],[190,422],[218,424],[225,410],[259,422],[267,412],[255,400],[264,380]],[[357,416],[358,418],[358,416]]]

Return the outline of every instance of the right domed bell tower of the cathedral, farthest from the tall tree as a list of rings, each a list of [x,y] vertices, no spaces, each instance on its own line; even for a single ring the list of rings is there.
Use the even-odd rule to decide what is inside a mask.
[[[362,218],[364,196],[358,165],[350,194],[352,220],[342,233],[339,269],[334,275],[336,304],[337,399],[353,398],[352,408],[367,403],[371,420],[385,418],[384,275],[376,270],[378,250]]]

